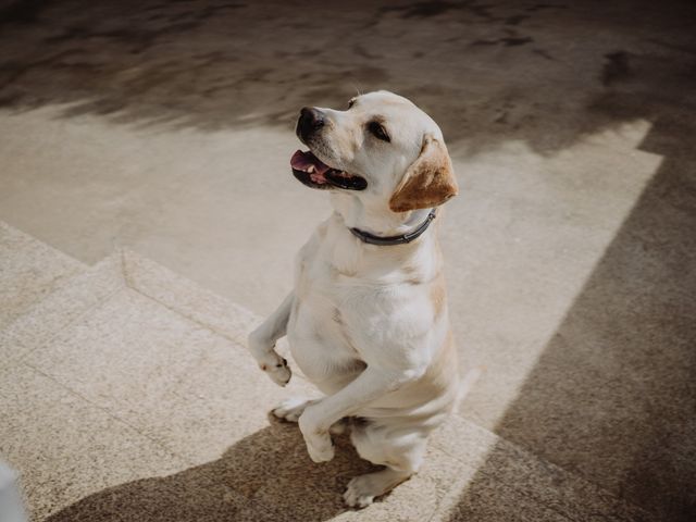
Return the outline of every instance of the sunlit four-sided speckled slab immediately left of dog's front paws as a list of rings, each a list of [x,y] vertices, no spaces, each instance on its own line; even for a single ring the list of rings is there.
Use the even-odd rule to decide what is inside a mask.
[[[314,393],[276,386],[244,347],[129,288],[24,360],[194,463],[265,426],[287,395]]]

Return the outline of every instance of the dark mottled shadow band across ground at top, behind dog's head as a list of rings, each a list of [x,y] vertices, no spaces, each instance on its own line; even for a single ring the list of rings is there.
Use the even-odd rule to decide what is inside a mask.
[[[637,117],[624,95],[686,100],[696,63],[688,1],[3,3],[0,107],[137,125],[289,129],[304,104],[387,88],[450,144],[549,152]]]

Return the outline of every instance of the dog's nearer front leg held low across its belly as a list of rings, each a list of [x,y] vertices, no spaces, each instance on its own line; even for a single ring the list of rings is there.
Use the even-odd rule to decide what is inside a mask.
[[[333,459],[334,446],[328,430],[334,423],[355,414],[371,401],[398,389],[420,375],[421,371],[368,366],[336,394],[308,406],[298,422],[310,458],[314,462]]]

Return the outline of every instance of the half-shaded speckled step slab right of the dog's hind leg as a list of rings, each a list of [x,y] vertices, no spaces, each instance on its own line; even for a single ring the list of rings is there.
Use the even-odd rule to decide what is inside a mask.
[[[434,434],[432,445],[470,470],[453,487],[459,489],[457,497],[444,502],[444,511],[460,513],[458,517],[465,520],[558,520],[559,515],[577,521],[655,520],[651,513],[582,476],[460,417],[449,419]],[[524,502],[510,500],[518,497]]]

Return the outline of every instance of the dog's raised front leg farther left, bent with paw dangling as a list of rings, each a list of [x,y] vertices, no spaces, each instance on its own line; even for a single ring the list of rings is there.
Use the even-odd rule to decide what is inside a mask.
[[[290,291],[278,309],[249,334],[248,339],[249,351],[259,363],[259,368],[279,386],[285,386],[290,381],[293,372],[287,361],[275,351],[275,343],[287,332],[294,300],[295,293]]]

